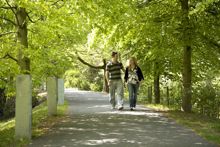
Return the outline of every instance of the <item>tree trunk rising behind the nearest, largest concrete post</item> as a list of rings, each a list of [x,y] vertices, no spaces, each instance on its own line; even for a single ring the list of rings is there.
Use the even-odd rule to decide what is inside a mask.
[[[20,43],[18,51],[18,64],[22,73],[30,72],[30,59],[24,55],[24,50],[28,48],[27,13],[25,8],[18,8],[17,18],[17,37]]]

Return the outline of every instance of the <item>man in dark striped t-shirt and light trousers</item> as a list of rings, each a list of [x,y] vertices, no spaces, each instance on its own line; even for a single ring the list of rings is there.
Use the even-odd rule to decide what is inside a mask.
[[[124,89],[121,79],[121,70],[124,70],[122,63],[118,61],[118,53],[112,52],[112,60],[106,65],[106,79],[109,85],[110,103],[115,109],[115,93],[117,93],[118,110],[123,109]]]

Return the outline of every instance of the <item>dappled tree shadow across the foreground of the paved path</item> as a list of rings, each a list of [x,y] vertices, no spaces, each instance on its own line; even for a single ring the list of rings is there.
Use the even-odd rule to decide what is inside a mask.
[[[42,146],[211,146],[167,118],[146,115],[71,116],[49,134],[40,141]]]

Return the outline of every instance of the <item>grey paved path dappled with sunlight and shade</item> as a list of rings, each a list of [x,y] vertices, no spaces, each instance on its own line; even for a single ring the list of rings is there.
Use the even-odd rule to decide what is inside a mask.
[[[68,117],[30,147],[215,147],[175,122],[138,106],[111,110],[108,95],[66,91]],[[128,106],[128,105],[127,105]]]

